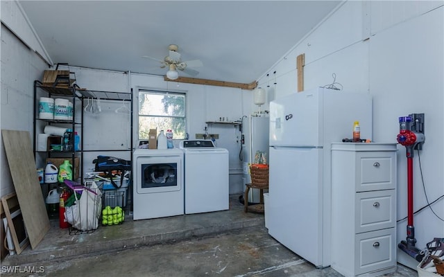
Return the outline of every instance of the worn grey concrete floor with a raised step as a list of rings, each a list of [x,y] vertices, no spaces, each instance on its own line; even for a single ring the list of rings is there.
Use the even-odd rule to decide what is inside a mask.
[[[89,234],[69,235],[58,221],[51,224],[35,249],[1,262],[2,276],[341,276],[331,267],[314,268],[271,238],[264,215],[244,213],[237,197],[231,197],[229,211],[126,217]],[[418,274],[399,265],[386,276]]]

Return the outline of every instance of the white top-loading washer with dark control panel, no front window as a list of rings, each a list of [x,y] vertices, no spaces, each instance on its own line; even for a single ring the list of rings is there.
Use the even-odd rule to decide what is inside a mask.
[[[185,213],[229,208],[228,150],[209,140],[181,141],[185,153]]]

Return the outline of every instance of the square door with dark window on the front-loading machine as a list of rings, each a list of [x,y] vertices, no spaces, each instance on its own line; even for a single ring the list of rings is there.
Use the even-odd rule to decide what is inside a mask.
[[[178,156],[137,157],[137,193],[164,193],[182,189],[182,159]]]

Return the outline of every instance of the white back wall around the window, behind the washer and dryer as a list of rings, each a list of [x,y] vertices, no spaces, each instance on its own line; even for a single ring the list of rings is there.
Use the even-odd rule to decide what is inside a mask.
[[[61,66],[60,69],[65,69]],[[187,93],[187,133],[189,139],[195,139],[195,134],[203,134],[208,127],[209,134],[219,134],[216,145],[229,151],[230,161],[230,193],[241,193],[241,161],[240,132],[234,125],[206,124],[207,121],[219,120],[219,117],[230,120],[240,120],[243,114],[250,114],[252,91],[237,88],[214,87],[207,85],[165,82],[162,76],[146,75],[120,71],[88,69],[69,66],[69,71],[76,73],[77,84],[81,88],[92,91],[127,92],[133,88],[133,145],[137,145],[137,89],[157,89],[164,91],[181,91]],[[83,113],[84,116],[84,150],[127,150],[130,147],[130,116],[116,114],[114,111],[122,105],[121,102],[101,100],[101,113]],[[129,107],[129,103],[128,103]],[[80,106],[76,109],[80,111]],[[79,118],[79,117],[78,117]],[[80,122],[80,119],[78,119]],[[176,146],[178,141],[175,141]],[[84,172],[94,168],[92,160],[98,154],[110,154],[130,159],[130,152],[84,152]]]

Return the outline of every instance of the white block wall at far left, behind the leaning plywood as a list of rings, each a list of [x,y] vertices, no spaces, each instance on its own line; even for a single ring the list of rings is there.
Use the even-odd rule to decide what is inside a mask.
[[[1,25],[1,129],[33,134],[33,81],[42,79],[46,63]],[[14,191],[8,160],[0,137],[0,195]]]

